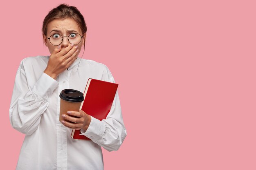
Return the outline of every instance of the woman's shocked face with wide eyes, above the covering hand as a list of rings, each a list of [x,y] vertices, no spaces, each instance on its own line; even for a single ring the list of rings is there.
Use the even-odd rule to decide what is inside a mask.
[[[56,30],[56,31],[53,31],[53,30]],[[72,32],[70,32],[70,31],[72,31]],[[64,37],[64,36],[69,36],[71,33],[79,33],[81,36],[84,36],[84,38],[85,38],[85,33],[84,33],[84,35],[82,35],[82,31],[79,28],[76,21],[73,19],[70,19],[70,18],[55,19],[55,20],[52,20],[51,22],[49,22],[49,24],[47,25],[47,34],[46,34],[47,37],[50,38],[50,36],[55,33],[58,33],[63,36],[63,41],[60,44],[61,48],[63,48],[63,49],[71,44],[68,41],[67,37]],[[56,36],[58,36],[58,35],[56,35]],[[52,52],[54,51],[54,49],[57,46],[52,45],[47,37],[45,35],[43,35],[43,40],[45,42],[45,46],[48,47],[49,52],[52,54]],[[84,44],[84,40],[82,38],[81,42],[79,44],[77,44],[78,45],[77,49],[79,49],[79,51],[78,51],[76,57],[79,55],[83,44]]]

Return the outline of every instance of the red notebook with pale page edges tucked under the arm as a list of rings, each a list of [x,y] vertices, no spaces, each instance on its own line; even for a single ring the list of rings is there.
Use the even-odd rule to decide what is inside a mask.
[[[81,103],[80,110],[83,110],[88,115],[99,119],[106,119],[113,100],[117,92],[118,84],[105,82],[98,79],[88,79],[88,82],[83,93],[84,101]],[[71,137],[73,139],[87,139],[81,134],[80,130],[72,130]]]

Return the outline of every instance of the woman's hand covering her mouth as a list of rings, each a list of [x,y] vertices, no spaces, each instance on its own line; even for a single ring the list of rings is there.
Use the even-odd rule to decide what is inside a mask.
[[[77,52],[77,46],[73,44],[66,48],[61,48],[61,45],[59,45],[49,57],[44,73],[56,79],[60,73],[65,71],[76,60]]]

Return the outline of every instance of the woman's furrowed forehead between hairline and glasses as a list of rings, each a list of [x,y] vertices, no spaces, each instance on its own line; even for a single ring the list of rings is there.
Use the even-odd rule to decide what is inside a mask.
[[[59,30],[60,33],[67,33],[67,30],[74,30],[81,33],[81,29],[79,28],[78,24],[71,18],[52,20],[47,25],[47,34],[52,30]]]

